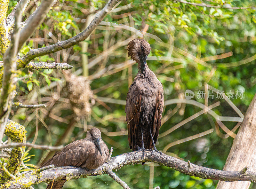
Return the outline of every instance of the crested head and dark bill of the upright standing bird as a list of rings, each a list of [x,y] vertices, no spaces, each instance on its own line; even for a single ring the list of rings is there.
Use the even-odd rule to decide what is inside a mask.
[[[150,44],[145,39],[133,39],[128,43],[128,56],[140,64],[140,71],[144,74],[147,56],[150,53]]]

